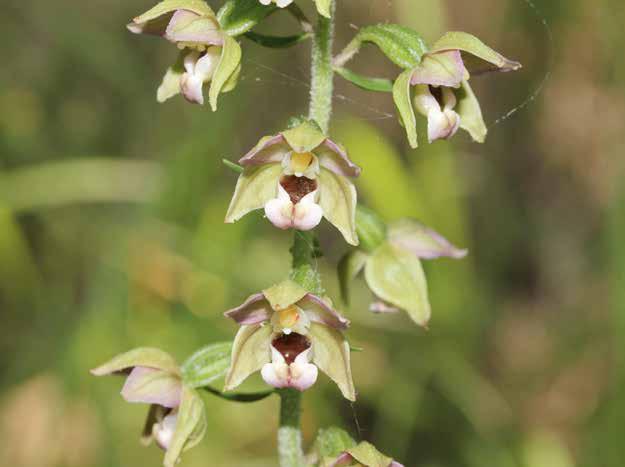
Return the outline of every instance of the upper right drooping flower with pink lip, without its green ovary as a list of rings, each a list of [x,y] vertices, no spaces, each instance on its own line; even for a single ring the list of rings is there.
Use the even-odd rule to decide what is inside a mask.
[[[464,32],[449,32],[421,57],[417,67],[395,81],[393,96],[412,147],[417,147],[415,112],[428,120],[428,140],[449,139],[458,128],[483,143],[487,128],[480,104],[469,85],[471,75],[514,71],[508,60]],[[414,92],[411,92],[414,89]]]

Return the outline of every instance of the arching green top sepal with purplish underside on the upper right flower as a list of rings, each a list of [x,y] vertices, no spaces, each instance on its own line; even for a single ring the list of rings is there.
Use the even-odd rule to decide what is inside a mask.
[[[435,53],[443,50],[460,50],[465,52],[463,60],[470,73],[515,71],[521,68],[519,62],[507,59],[499,52],[488,47],[477,37],[466,32],[452,31],[446,33],[436,41],[430,52]],[[467,54],[470,54],[470,56],[467,56]]]

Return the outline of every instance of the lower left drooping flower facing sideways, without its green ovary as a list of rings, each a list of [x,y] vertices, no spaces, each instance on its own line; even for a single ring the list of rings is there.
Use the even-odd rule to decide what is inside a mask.
[[[204,403],[183,381],[176,361],[159,349],[139,348],[118,355],[91,370],[95,376],[127,376],[121,395],[126,401],[150,404],[142,440],[154,440],[165,451],[165,467],[200,442],[206,431]]]

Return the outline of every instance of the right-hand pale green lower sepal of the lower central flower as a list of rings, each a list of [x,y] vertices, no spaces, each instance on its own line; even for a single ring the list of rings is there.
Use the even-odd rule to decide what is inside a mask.
[[[341,390],[347,400],[356,400],[352,380],[349,344],[343,334],[329,326],[310,324],[309,338],[313,345],[313,363]]]

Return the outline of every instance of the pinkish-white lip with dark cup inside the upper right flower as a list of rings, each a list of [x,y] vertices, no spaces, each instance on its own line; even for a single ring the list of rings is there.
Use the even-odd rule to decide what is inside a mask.
[[[460,128],[460,116],[454,111],[457,100],[453,90],[441,87],[440,93],[442,102],[432,95],[429,86],[418,85],[414,97],[415,110],[428,119],[430,143],[438,139],[449,139]]]

